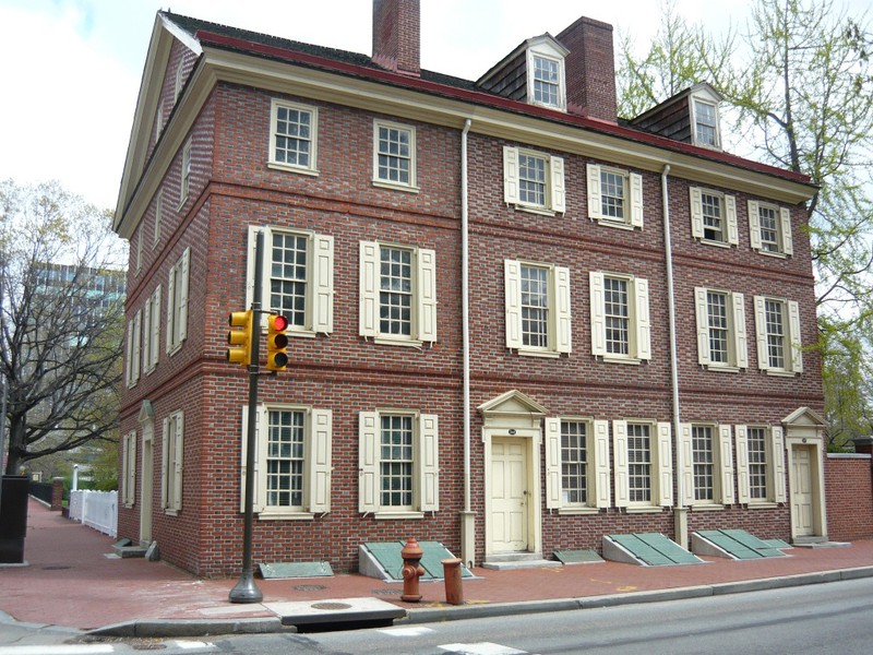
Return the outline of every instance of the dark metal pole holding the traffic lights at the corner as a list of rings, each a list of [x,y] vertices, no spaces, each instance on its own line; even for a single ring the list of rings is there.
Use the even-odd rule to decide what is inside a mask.
[[[264,267],[264,233],[258,233],[254,255],[254,297],[252,298],[251,361],[249,364],[249,422],[246,433],[246,519],[242,527],[242,572],[230,590],[230,603],[260,603],[264,595],[254,583],[252,529],[254,525],[254,448],[258,425],[258,369],[261,356],[261,288]]]

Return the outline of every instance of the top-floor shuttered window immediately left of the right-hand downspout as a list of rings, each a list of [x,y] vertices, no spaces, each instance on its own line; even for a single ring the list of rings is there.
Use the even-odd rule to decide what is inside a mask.
[[[643,176],[588,164],[588,217],[627,229],[643,229]]]

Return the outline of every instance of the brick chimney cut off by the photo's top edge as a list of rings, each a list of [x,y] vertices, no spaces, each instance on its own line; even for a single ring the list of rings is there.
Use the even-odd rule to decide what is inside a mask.
[[[373,62],[405,75],[421,74],[419,0],[373,0]]]

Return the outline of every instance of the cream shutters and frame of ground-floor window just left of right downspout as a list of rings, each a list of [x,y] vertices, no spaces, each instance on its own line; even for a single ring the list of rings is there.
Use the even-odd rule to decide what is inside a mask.
[[[630,462],[627,456],[627,426],[649,426],[649,502],[630,499]],[[627,513],[661,511],[673,504],[673,449],[672,428],[669,422],[646,419],[619,419],[612,421],[612,457],[615,466],[615,507]]]

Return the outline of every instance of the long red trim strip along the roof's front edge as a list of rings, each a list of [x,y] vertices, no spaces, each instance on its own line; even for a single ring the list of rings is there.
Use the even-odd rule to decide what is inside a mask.
[[[685,153],[692,156],[702,157],[704,159],[711,159],[715,162],[729,164],[731,166],[738,166],[740,168],[756,170],[765,175],[772,175],[793,182],[799,182],[801,184],[812,184],[810,177],[803,174],[793,172],[791,170],[785,170],[782,168],[777,168],[775,166],[762,164],[761,162],[744,159],[742,157],[738,157],[737,155],[731,155],[729,153],[709,151],[687,143],[681,143],[678,141],[672,141],[671,139],[658,136],[657,134],[649,134],[648,132],[642,132],[638,130],[624,128],[615,123],[595,120],[584,116],[564,114],[562,111],[555,111],[554,109],[547,109],[545,107],[528,105],[526,103],[519,103],[518,100],[511,100],[509,98],[500,96],[493,96],[490,94],[479,93],[476,91],[467,91],[465,88],[458,88],[456,86],[439,84],[436,82],[421,80],[420,78],[409,78],[408,75],[400,75],[397,73],[393,73],[391,71],[371,69],[355,63],[348,63],[345,61],[337,61],[335,59],[319,57],[316,55],[300,52],[298,50],[289,50],[287,48],[280,48],[278,46],[258,44],[241,38],[235,38],[231,36],[216,34],[214,32],[199,29],[194,34],[194,37],[198,38],[203,45],[215,45],[219,47],[234,48],[237,50],[247,50],[256,55],[262,55],[275,59],[282,59],[284,61],[304,63],[308,66],[333,70],[340,73],[355,75],[358,78],[366,78],[369,80],[375,80],[387,84],[394,84],[396,86],[404,86],[412,90],[439,94],[442,96],[450,96],[461,100],[476,103],[479,105],[498,107],[501,109],[506,109],[509,111],[514,111],[516,114],[536,116],[548,120],[553,120],[557,122],[577,126],[579,128],[584,128],[595,132],[612,134],[614,136],[619,136],[622,139],[627,139],[631,141],[637,141],[648,145],[662,147],[665,150]]]

